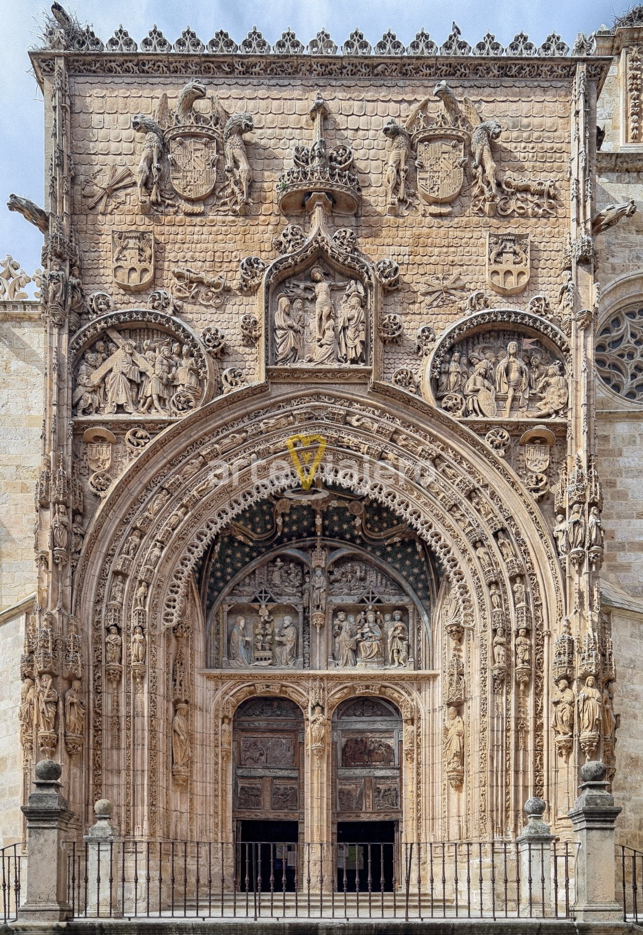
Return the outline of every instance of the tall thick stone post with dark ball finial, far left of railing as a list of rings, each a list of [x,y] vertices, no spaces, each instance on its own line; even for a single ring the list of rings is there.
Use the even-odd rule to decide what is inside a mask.
[[[27,819],[26,899],[19,922],[60,922],[71,916],[67,902],[67,856],[64,832],[73,813],[61,795],[61,767],[53,760],[36,763],[36,791],[22,806]]]

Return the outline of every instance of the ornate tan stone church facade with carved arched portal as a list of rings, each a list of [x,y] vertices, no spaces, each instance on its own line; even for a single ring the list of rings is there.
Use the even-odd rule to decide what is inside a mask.
[[[107,798],[127,840],[300,845],[513,841],[530,797],[571,841],[601,761],[637,846],[630,19],[46,25],[45,207],[9,202],[41,295],[0,280],[5,842],[44,758],[70,838]]]

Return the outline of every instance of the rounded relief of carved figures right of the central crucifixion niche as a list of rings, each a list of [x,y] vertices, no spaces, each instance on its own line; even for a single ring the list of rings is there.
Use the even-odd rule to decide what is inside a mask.
[[[561,354],[536,338],[497,330],[454,344],[434,372],[433,393],[458,417],[561,419],[568,386]]]

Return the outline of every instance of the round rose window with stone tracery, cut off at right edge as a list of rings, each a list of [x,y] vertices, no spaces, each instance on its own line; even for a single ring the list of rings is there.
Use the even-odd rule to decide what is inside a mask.
[[[643,306],[611,315],[596,338],[596,369],[610,390],[643,402]]]

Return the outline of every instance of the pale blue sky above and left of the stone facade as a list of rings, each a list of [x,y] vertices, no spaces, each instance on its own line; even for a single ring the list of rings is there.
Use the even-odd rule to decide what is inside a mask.
[[[423,26],[439,44],[455,20],[472,45],[487,31],[507,45],[523,30],[540,44],[552,30],[571,46],[578,32],[590,33],[609,24],[623,7],[613,0],[76,0],[64,6],[75,10],[79,20],[91,22],[104,41],[119,23],[136,41],[153,23],[170,41],[190,25],[207,42],[225,29],[236,42],[253,25],[270,41],[290,26],[306,43],[325,27],[337,45],[358,26],[374,44],[391,28],[408,43]],[[36,43],[37,23],[42,19],[41,0],[3,0],[4,42],[0,56],[0,92],[4,120],[0,135],[0,259],[11,253],[28,271],[40,262],[42,236],[19,214],[5,208],[10,192],[23,194],[38,204],[43,200],[42,99],[29,74],[27,49]]]

